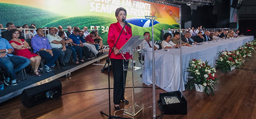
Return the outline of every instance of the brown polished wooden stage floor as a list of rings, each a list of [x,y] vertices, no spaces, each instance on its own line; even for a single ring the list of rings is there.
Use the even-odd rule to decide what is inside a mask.
[[[163,119],[255,119],[256,118],[256,55],[245,61],[241,69],[223,73],[217,70],[221,81],[214,96],[207,96],[194,90],[184,91],[187,104],[187,115],[164,115]],[[101,60],[101,64],[105,61]],[[62,94],[73,91],[90,90],[108,87],[108,73],[100,72],[102,66],[89,65],[72,72],[67,78],[61,78]],[[139,77],[140,73],[136,73]],[[113,75],[111,72],[111,87]],[[128,73],[127,87],[131,86],[131,73]],[[112,98],[111,90],[111,98]],[[156,89],[156,100],[159,93],[166,92]],[[126,89],[126,99],[130,100],[131,89]],[[112,98],[113,99],[113,98]],[[115,111],[111,99],[112,115]],[[144,101],[152,102],[152,89],[144,88]],[[121,104],[123,104],[121,102]],[[121,108],[123,106],[121,105]],[[157,115],[160,110],[156,107]],[[40,105],[26,108],[19,97],[0,104],[0,119],[107,119],[100,114],[108,114],[108,90],[79,92],[53,99]],[[136,119],[151,119],[152,108],[140,112]]]

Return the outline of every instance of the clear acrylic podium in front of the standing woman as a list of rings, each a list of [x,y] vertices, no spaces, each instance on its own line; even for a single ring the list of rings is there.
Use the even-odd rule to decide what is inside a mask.
[[[127,71],[127,77],[128,75],[132,75],[132,80],[129,80],[128,78],[126,79],[126,87],[131,88],[125,89],[126,99],[130,100],[130,103],[128,105],[124,104],[124,109],[120,109],[119,111],[122,111],[123,116],[128,116],[131,118],[134,118],[134,116],[136,116],[140,111],[142,111],[142,109],[151,107],[151,103],[143,103],[143,83],[142,79],[140,78],[140,69],[142,65],[134,61],[134,57],[137,57],[135,55],[137,53],[137,47],[143,40],[143,36],[132,36],[126,42],[126,44],[119,50],[119,52],[123,56],[123,63],[124,61],[127,62],[131,59],[128,66],[123,66],[124,71]],[[117,115],[119,111],[115,111],[114,115],[120,116]]]

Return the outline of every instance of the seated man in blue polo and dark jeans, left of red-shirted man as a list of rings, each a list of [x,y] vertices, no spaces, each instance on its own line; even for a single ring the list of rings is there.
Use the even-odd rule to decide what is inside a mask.
[[[84,44],[82,43],[79,33],[80,33],[80,30],[75,29],[74,33],[69,35],[69,38],[73,40],[72,45],[82,47],[83,55],[85,56],[86,59],[93,58],[94,56],[91,56],[93,54],[90,53],[88,47],[84,46]]]

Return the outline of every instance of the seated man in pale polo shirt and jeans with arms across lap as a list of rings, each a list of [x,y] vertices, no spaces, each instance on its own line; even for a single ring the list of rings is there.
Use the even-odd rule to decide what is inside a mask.
[[[65,63],[69,62],[69,58],[72,54],[72,51],[70,49],[66,49],[65,41],[62,40],[61,37],[59,37],[58,35],[55,34],[56,29],[53,27],[50,27],[49,34],[47,34],[46,37],[52,46],[52,51],[60,53],[60,56],[59,56],[60,64],[62,66],[66,66]]]

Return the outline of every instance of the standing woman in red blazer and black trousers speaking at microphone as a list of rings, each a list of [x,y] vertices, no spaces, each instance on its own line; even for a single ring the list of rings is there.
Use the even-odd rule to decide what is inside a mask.
[[[127,71],[123,70],[123,56],[122,54],[119,53],[119,49],[125,45],[128,39],[130,39],[130,37],[132,36],[132,31],[130,27],[125,26],[123,32],[121,33],[125,25],[122,19],[126,20],[126,10],[124,8],[122,7],[117,8],[115,11],[115,16],[116,16],[117,22],[112,23],[109,27],[108,44],[110,47],[109,55],[110,55],[110,61],[113,68],[113,75],[114,75],[114,96],[113,96],[114,105],[115,105],[115,109],[119,110],[120,101],[124,103],[129,103],[129,101],[126,100],[124,97],[124,94],[125,94],[124,86],[126,82]],[[121,35],[117,41],[117,38],[120,33]],[[116,43],[116,46],[114,47],[115,43]],[[112,49],[113,49],[113,52],[112,54],[110,54]],[[128,64],[129,64],[129,61],[126,62],[124,60],[124,65],[128,66]]]

